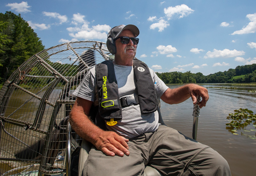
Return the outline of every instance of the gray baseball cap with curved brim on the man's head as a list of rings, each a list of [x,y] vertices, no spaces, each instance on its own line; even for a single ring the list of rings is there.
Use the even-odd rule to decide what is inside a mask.
[[[108,33],[108,38],[117,38],[123,30],[125,29],[129,29],[130,31],[132,31],[133,35],[135,37],[137,37],[139,34],[140,34],[140,31],[138,29],[138,27],[134,26],[134,25],[119,25],[119,26],[116,26],[116,27],[113,27],[109,33]]]

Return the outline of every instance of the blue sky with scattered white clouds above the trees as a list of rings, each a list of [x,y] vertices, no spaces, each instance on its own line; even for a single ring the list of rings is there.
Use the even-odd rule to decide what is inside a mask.
[[[256,63],[255,0],[1,0],[21,14],[45,48],[69,41],[106,42],[112,27],[140,30],[136,57],[154,71],[227,71]]]

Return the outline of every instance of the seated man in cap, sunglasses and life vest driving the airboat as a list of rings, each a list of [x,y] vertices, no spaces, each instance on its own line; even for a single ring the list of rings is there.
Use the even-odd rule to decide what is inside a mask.
[[[134,60],[138,35],[134,25],[112,28],[107,47],[115,54],[114,62],[92,68],[73,93],[77,99],[70,113],[71,126],[94,145],[84,175],[144,175],[145,165],[164,175],[231,175],[227,161],[216,151],[158,123],[160,98],[175,104],[191,97],[195,104],[200,95],[202,108],[209,96],[206,88],[196,84],[170,89],[153,70]],[[118,97],[112,95],[115,92]],[[97,124],[103,122],[107,130],[88,117],[94,105],[100,106]]]

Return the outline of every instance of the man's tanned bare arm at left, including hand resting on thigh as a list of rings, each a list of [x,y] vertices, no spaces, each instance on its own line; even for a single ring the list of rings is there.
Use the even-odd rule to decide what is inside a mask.
[[[129,147],[123,136],[115,132],[104,131],[96,126],[87,116],[92,107],[92,101],[77,97],[70,112],[70,124],[75,132],[83,139],[91,142],[97,149],[108,156],[129,155]]]

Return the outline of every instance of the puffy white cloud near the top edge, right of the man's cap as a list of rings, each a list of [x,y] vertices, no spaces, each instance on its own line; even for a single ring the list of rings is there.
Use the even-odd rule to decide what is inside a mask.
[[[194,10],[189,8],[185,4],[176,5],[175,7],[164,8],[164,13],[168,19],[171,19],[174,15],[179,16],[179,18],[183,18],[188,16]]]

